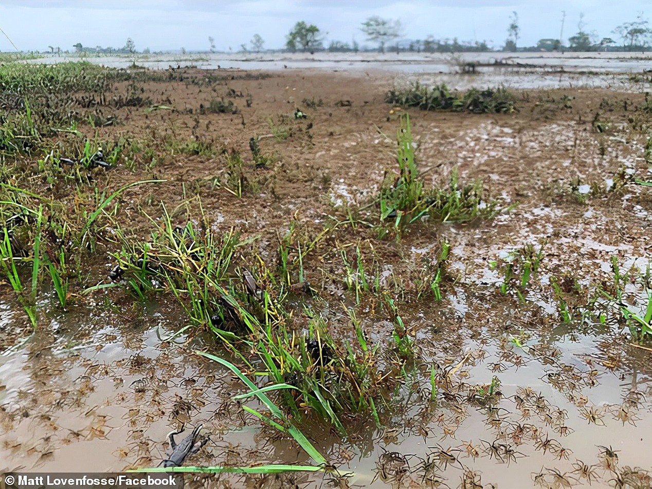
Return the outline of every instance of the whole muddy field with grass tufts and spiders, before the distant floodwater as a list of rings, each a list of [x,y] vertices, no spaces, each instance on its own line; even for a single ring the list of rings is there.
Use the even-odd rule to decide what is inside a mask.
[[[646,76],[3,64],[0,471],[652,487]]]

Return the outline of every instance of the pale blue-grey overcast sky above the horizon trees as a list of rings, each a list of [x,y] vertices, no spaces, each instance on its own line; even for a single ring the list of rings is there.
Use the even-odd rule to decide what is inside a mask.
[[[213,36],[216,48],[226,51],[256,33],[265,48],[281,48],[299,20],[327,33],[327,43],[355,38],[364,44],[360,23],[378,15],[400,19],[404,38],[432,34],[502,46],[512,10],[520,20],[518,44],[531,46],[559,37],[562,10],[565,39],[578,31],[580,12],[585,31],[616,38],[617,25],[642,12],[650,19],[652,0],[0,0],[0,29],[25,51],[48,45],[72,51],[77,42],[119,48],[128,36],[138,50],[207,50]],[[0,50],[13,50],[1,34]]]

